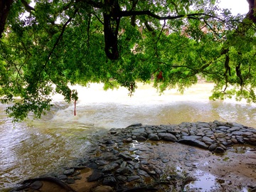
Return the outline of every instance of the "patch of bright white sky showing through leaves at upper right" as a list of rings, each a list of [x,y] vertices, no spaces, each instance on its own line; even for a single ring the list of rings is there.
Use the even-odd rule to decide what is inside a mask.
[[[233,15],[247,14],[249,10],[247,0],[221,0],[219,6],[223,9],[230,9]]]

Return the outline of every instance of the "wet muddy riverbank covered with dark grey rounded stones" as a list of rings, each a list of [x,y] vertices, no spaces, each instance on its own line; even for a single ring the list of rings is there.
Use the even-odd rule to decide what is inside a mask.
[[[77,166],[13,191],[256,191],[256,129],[242,124],[133,124],[91,142]]]

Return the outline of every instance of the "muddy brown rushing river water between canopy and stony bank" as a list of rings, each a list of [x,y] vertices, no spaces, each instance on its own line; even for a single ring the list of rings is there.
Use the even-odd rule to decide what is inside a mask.
[[[88,135],[129,124],[179,124],[181,122],[238,122],[256,127],[256,105],[245,102],[209,101],[213,84],[200,83],[184,95],[168,90],[164,95],[139,85],[134,96],[126,89],[102,90],[102,85],[74,87],[74,105],[54,96],[54,107],[39,120],[13,124],[0,105],[0,191],[18,181],[47,174],[85,156]]]

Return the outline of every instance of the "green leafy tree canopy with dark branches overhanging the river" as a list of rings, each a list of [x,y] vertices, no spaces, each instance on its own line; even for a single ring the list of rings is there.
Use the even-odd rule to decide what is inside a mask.
[[[41,117],[53,93],[78,100],[69,85],[132,95],[137,80],[153,80],[182,92],[198,77],[215,82],[213,100],[256,102],[256,1],[247,1],[245,16],[214,0],[1,1],[1,102],[14,102],[6,111],[17,121]]]

